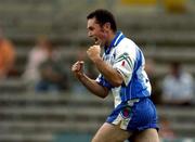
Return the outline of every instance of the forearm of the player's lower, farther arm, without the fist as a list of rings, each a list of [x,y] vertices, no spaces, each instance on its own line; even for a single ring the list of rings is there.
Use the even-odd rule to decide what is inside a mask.
[[[87,75],[82,74],[78,77],[80,82],[93,94],[100,98],[105,98],[108,94],[108,90],[100,86],[95,80],[89,78]]]

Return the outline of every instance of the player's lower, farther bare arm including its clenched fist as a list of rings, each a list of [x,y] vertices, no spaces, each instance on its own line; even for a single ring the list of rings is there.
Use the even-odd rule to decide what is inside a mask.
[[[78,61],[73,65],[72,72],[74,72],[76,78],[78,78],[79,81],[93,94],[100,98],[107,96],[108,89],[100,86],[95,80],[89,78],[86,74],[83,74],[82,66],[83,66],[82,61]]]

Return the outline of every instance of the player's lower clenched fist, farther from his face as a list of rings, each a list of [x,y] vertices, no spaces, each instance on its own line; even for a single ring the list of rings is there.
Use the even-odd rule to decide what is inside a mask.
[[[75,74],[77,78],[83,75],[83,61],[77,61],[73,66],[72,66],[72,72]]]

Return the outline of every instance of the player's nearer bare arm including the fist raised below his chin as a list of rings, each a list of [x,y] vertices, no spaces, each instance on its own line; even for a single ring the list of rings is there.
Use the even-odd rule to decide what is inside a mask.
[[[92,46],[87,51],[88,56],[95,64],[99,72],[106,78],[106,80],[114,87],[120,86],[123,81],[122,76],[109,64],[102,60],[100,52],[100,46]]]

